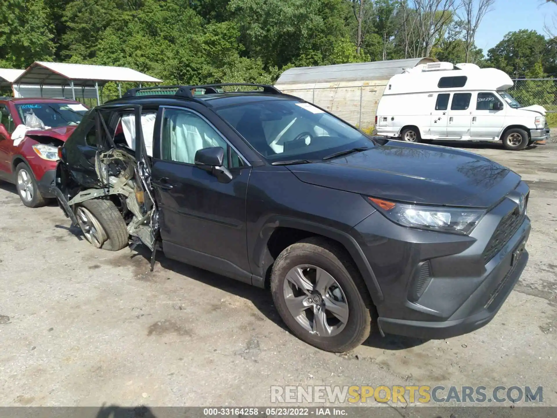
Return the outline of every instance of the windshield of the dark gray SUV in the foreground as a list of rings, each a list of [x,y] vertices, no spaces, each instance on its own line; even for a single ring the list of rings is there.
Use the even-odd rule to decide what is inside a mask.
[[[342,150],[374,145],[357,129],[296,100],[258,100],[216,111],[272,162],[321,159]]]

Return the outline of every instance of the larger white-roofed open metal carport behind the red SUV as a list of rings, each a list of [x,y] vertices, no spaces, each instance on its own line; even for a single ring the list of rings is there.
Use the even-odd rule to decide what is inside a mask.
[[[100,104],[99,87],[102,88],[109,81],[118,83],[120,96],[121,82],[136,82],[140,86],[144,82],[162,82],[128,67],[35,61],[13,81],[13,84],[40,86],[41,96],[43,86],[62,86],[62,90],[69,86],[74,100],[76,88],[95,88],[97,104]]]

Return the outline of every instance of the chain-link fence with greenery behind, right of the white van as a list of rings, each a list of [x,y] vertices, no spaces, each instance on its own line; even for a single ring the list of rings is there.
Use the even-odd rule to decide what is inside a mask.
[[[509,90],[522,106],[540,105],[548,111],[551,128],[557,128],[557,79],[513,79]]]

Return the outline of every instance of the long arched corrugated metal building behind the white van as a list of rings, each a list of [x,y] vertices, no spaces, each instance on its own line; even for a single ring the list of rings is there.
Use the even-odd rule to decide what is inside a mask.
[[[373,128],[379,99],[390,77],[433,58],[297,67],[275,84],[284,93],[315,103],[361,129]]]

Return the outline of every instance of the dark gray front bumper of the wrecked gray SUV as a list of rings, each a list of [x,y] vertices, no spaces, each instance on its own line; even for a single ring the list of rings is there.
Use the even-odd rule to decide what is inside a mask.
[[[526,184],[522,182],[513,193],[518,191],[525,195]],[[490,322],[529,257],[524,244],[531,226],[525,215],[496,254],[486,257],[486,247],[495,231],[501,230],[501,220],[516,207],[514,200],[505,198],[470,236],[405,228],[379,212],[356,225],[354,237],[383,293],[383,300],[376,303],[380,331],[439,339]]]

